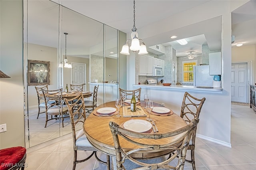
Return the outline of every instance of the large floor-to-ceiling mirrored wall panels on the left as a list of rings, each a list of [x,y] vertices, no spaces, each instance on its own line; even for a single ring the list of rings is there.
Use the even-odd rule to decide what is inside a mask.
[[[64,119],[64,127],[62,119],[48,121],[44,127],[46,114],[38,115],[35,87],[47,85],[54,90],[67,85],[70,90],[70,84],[84,83],[83,91],[93,92],[99,85],[98,105],[116,99],[118,32],[52,1],[24,2],[24,68],[30,68],[24,72],[26,148],[71,133],[69,118]],[[64,67],[65,56],[72,68]],[[34,83],[28,81],[30,77]]]

